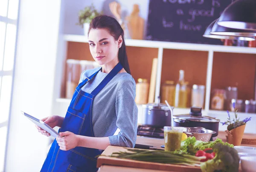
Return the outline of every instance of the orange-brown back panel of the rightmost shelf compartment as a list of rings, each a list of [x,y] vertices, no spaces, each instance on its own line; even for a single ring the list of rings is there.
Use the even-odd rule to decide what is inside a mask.
[[[254,99],[255,71],[256,54],[215,52],[211,91],[237,86],[238,99]]]

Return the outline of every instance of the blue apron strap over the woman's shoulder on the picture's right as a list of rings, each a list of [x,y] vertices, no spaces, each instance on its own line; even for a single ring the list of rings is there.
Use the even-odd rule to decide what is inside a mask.
[[[102,80],[102,82],[99,83],[99,85],[91,92],[91,94],[96,96],[108,84],[108,82],[111,81],[113,77],[121,71],[122,68],[123,66],[121,63],[117,63],[117,65],[111,70],[111,72],[109,72],[109,74]]]

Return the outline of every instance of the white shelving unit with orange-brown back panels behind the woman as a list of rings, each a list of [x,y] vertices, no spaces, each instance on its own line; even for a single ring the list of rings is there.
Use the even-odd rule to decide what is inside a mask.
[[[66,34],[63,35],[63,41],[67,45],[64,48],[66,59],[93,60],[86,36]],[[239,92],[239,98],[254,98],[252,96],[254,95],[256,48],[131,39],[126,39],[125,44],[134,80],[140,77],[150,80],[152,60],[158,58],[155,102],[160,95],[161,83],[165,80],[177,81],[180,69],[185,71],[185,80],[189,81],[190,85],[206,86],[203,115],[216,117],[221,121],[227,118],[226,111],[210,109],[210,96],[215,88],[224,89],[225,86],[235,86],[238,82],[238,89],[241,92],[241,95]],[[65,82],[62,80],[61,83]],[[64,104],[68,106],[70,100],[62,98],[64,87],[61,87],[60,97],[56,102],[61,106]],[[138,108],[140,113],[141,106],[138,105]],[[175,108],[174,114],[186,114],[189,111],[189,108]],[[252,116],[252,123],[255,126],[252,132],[256,133],[256,114],[240,114],[244,118]],[[246,129],[245,132],[248,130]]]

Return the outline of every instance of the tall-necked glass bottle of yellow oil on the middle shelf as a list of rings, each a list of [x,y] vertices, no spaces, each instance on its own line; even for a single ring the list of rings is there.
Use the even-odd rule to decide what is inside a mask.
[[[180,70],[179,80],[175,87],[175,107],[186,108],[187,105],[187,89],[184,81],[184,71]]]

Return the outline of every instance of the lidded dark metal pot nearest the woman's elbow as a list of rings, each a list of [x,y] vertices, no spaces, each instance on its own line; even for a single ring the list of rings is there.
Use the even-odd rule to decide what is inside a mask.
[[[154,127],[171,126],[172,117],[171,110],[166,104],[160,103],[148,103],[142,105],[143,125],[149,125]]]

